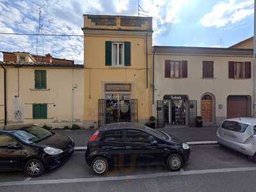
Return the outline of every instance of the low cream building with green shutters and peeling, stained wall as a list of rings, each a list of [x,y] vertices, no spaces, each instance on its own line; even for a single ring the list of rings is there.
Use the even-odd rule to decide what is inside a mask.
[[[2,67],[6,70],[7,124],[48,125],[54,128],[83,125],[83,65],[0,62],[0,124],[3,126]]]

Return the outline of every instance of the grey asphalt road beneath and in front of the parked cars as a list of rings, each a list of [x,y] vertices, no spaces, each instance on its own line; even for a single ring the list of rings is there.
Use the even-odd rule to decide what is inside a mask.
[[[22,172],[0,173],[0,191],[255,191],[256,163],[219,145],[191,147],[180,172],[161,166],[115,168],[95,176],[75,152],[60,168],[31,179]]]

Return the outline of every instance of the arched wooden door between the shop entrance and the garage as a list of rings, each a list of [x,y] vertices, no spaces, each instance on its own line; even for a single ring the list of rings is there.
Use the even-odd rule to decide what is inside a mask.
[[[215,122],[215,97],[212,93],[204,93],[202,95],[201,115],[204,123]]]

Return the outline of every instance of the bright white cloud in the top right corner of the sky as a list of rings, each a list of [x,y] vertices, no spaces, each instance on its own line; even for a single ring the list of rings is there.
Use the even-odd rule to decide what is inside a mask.
[[[200,22],[205,27],[220,28],[227,24],[244,19],[248,15],[253,14],[253,0],[236,0],[222,1],[212,8],[211,12],[207,13],[200,19]]]

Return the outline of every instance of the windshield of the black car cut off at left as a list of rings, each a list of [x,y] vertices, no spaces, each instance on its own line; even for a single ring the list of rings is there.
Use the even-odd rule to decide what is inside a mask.
[[[13,134],[25,143],[37,143],[52,136],[52,132],[37,126],[17,130],[14,131]]]

